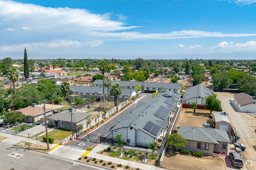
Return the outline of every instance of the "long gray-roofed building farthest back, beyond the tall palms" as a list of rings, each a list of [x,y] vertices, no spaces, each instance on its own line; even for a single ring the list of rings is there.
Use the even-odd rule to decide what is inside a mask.
[[[113,80],[113,83],[120,83],[122,86],[126,87],[127,89],[135,89],[135,86],[144,85],[144,89],[152,92],[166,92],[166,91],[176,91],[180,93],[181,84],[180,83],[162,83],[162,82],[141,82],[141,81],[119,81]],[[93,82],[95,86],[100,86],[102,84],[102,80],[95,80]]]

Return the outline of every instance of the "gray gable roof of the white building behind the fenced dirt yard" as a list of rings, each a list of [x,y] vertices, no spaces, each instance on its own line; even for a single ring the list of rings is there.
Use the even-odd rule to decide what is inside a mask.
[[[202,97],[206,99],[206,97],[212,94],[213,94],[213,90],[210,90],[198,84],[197,86],[193,86],[187,89],[186,93],[183,95],[183,101],[192,99],[194,97]]]

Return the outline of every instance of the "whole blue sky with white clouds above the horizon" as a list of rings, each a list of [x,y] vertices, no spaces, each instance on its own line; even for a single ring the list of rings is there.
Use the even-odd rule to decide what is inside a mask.
[[[0,52],[256,51],[256,0],[0,0]]]

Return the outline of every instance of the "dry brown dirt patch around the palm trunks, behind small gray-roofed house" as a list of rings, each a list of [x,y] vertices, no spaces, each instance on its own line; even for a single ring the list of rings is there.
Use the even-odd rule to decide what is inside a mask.
[[[113,108],[115,106],[114,101],[105,101],[105,108],[107,108],[108,110]],[[91,108],[81,108],[80,110],[86,110],[87,113],[91,113],[92,115],[92,119],[96,118],[98,113],[103,113],[104,109],[103,109],[103,101],[99,101],[99,102],[94,102],[91,104]]]

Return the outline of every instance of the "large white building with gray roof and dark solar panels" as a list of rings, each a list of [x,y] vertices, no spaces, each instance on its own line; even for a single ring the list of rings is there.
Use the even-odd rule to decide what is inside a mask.
[[[165,136],[165,129],[169,126],[171,101],[163,96],[148,100],[143,105],[130,113],[127,117],[119,117],[119,122],[109,131],[112,137],[122,134],[124,143],[130,146],[145,146],[149,142],[157,141],[160,136]]]

